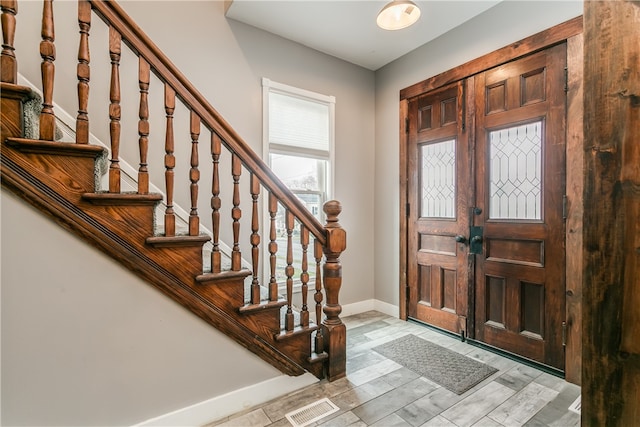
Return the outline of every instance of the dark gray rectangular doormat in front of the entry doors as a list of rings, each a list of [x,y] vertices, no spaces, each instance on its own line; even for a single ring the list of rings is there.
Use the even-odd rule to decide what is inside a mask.
[[[464,393],[498,371],[411,334],[373,350],[456,394]]]

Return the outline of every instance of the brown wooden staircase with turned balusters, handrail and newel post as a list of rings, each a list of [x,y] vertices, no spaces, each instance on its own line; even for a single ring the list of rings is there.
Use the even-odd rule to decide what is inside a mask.
[[[327,224],[320,224],[114,1],[78,1],[75,141],[58,141],[52,95],[55,21],[52,0],[42,4],[42,108],[37,119],[38,134],[32,135],[32,128],[25,125],[29,122],[25,120],[25,105],[33,103],[36,95],[30,88],[17,84],[19,52],[15,52],[14,37],[18,2],[0,1],[3,188],[122,263],[283,373],[301,375],[308,371],[330,381],[343,377],[346,330],[339,317],[342,284],[339,257],[346,247],[346,233],[338,222],[340,204],[327,202],[324,206]],[[110,91],[109,99],[102,101],[109,103],[109,120],[92,121],[91,126],[108,128],[109,149],[89,143],[88,37],[91,26],[96,24],[109,28]],[[133,192],[121,190],[119,61],[123,45],[139,60],[136,77],[140,90],[128,94],[139,97],[135,139],[140,157],[136,159],[139,168],[137,189]],[[152,73],[161,80],[164,89],[165,156],[160,165],[148,160]],[[191,143],[187,158],[180,158],[176,146],[176,141],[184,138],[174,136],[176,101],[189,112]],[[199,153],[201,134],[210,135],[206,156]],[[230,176],[222,172],[225,168],[221,159],[225,156],[231,159]],[[201,177],[200,166],[205,161],[210,162],[207,169],[211,170],[211,176]],[[176,178],[177,165],[188,168],[188,182]],[[108,188],[102,190],[101,171],[105,169]],[[150,171],[158,169],[164,171],[164,182],[157,185],[163,191],[153,193],[149,191],[154,184]],[[223,185],[227,182],[230,185]],[[221,190],[229,186],[229,194]],[[250,194],[241,197],[247,187]],[[183,232],[174,206],[174,198],[181,192],[188,195],[191,205]],[[203,192],[210,195],[211,208],[206,215],[201,215],[198,201]],[[268,209],[268,221],[263,221],[263,227],[261,199]],[[241,227],[243,207],[247,204],[243,205],[241,200],[249,200],[250,208],[245,210],[250,211],[250,230]],[[284,220],[284,240],[277,238],[279,218]],[[203,233],[201,221],[208,223],[209,219],[211,232]],[[229,254],[222,249],[225,245],[221,234],[232,240]],[[299,242],[294,243],[294,236]],[[300,248],[299,259],[293,255],[296,244]],[[244,261],[243,246],[250,247],[250,255],[246,257],[250,261]],[[285,253],[284,260],[279,262],[281,253]],[[261,273],[261,258],[267,260],[268,273]],[[285,278],[284,296],[279,293],[282,288],[278,277]],[[300,286],[300,301],[293,300],[294,284]],[[307,301],[309,291],[314,292],[312,302]]]

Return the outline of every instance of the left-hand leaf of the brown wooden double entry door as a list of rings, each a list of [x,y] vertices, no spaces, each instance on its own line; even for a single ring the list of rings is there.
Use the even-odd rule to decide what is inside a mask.
[[[470,175],[462,83],[409,102],[409,316],[466,330],[466,250]],[[458,240],[460,237],[458,237]]]

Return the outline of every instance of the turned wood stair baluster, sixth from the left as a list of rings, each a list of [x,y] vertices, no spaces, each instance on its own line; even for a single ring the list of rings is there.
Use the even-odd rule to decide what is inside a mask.
[[[167,237],[176,234],[176,214],[173,210],[173,189],[176,167],[176,157],[173,155],[174,135],[173,135],[173,112],[176,108],[176,92],[171,86],[164,85],[164,111],[167,115],[167,129],[164,137],[164,181],[167,187],[167,208],[164,211],[164,235]]]

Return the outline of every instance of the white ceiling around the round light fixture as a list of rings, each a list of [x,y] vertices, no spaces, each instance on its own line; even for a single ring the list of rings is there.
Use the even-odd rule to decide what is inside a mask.
[[[377,70],[502,0],[414,0],[422,15],[398,31],[376,26],[388,0],[233,0],[227,17]]]

